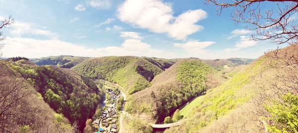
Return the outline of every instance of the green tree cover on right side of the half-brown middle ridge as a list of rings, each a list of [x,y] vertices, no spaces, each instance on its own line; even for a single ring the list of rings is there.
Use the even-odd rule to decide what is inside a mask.
[[[206,91],[207,74],[215,72],[209,65],[198,60],[187,60],[178,67],[176,79],[179,83],[159,87],[161,104],[157,105],[157,117],[160,120],[180,105]]]

